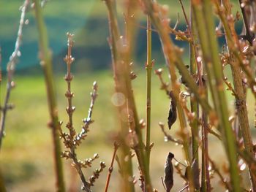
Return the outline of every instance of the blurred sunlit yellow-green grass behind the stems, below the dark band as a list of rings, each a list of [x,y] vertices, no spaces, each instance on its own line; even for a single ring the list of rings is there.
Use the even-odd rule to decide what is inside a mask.
[[[138,78],[133,81],[136,103],[140,118],[145,118],[146,110],[146,77],[143,70],[136,70]],[[166,74],[165,79],[167,80]],[[75,92],[73,104],[76,107],[74,122],[78,130],[81,126],[81,120],[87,116],[89,108],[89,92],[94,80],[99,84],[99,97],[94,107],[93,119],[95,122],[91,125],[89,136],[78,149],[78,156],[81,160],[89,158],[94,153],[99,153],[100,160],[105,161],[107,166],[110,164],[110,158],[113,153],[111,138],[113,132],[118,130],[116,121],[116,110],[111,103],[113,95],[113,80],[110,71],[95,72],[90,74],[78,74],[72,82],[72,91]],[[48,123],[48,107],[45,95],[45,85],[41,76],[17,76],[16,88],[12,92],[11,101],[15,104],[15,109],[7,115],[6,131],[3,148],[1,150],[1,169],[4,174],[4,180],[7,182],[8,191],[54,191],[53,157],[50,129],[46,126]],[[65,107],[67,101],[64,98],[66,82],[63,77],[56,77],[56,89],[59,102],[59,117],[67,122]],[[1,86],[1,98],[3,96],[4,82]],[[251,97],[249,95],[249,97]],[[232,110],[232,99],[229,96],[230,110]],[[249,105],[249,112],[253,112],[253,106]],[[163,91],[159,90],[157,77],[153,76],[152,85],[152,142],[154,147],[151,155],[151,172],[155,188],[163,191],[161,177],[163,176],[163,167],[165,157],[169,151],[176,155],[176,158],[183,161],[182,149],[179,146],[164,142],[163,135],[158,127],[158,122],[167,123],[167,111],[169,101]],[[249,115],[250,123],[253,123],[253,113]],[[253,125],[252,125],[253,126]],[[63,126],[64,128],[64,126]],[[178,131],[178,123],[168,131],[175,135]],[[210,137],[211,157],[215,161],[223,161],[225,154],[221,143],[214,137]],[[217,149],[217,150],[216,150]],[[135,161],[135,158],[134,158]],[[67,187],[71,182],[70,161],[64,160],[65,178]],[[138,175],[135,161],[135,174]],[[223,163],[222,163],[223,164]],[[94,168],[99,166],[99,161],[93,164]],[[93,169],[86,169],[86,175],[89,176]],[[102,191],[105,185],[105,178],[108,169],[105,169],[94,191]],[[117,167],[113,173],[113,180],[110,182],[110,191],[118,191]],[[246,177],[246,176],[245,176]],[[214,191],[217,176],[214,179]],[[72,182],[73,183],[73,182]],[[137,184],[136,184],[137,185]],[[175,184],[173,191],[182,188],[181,179],[175,175]],[[80,182],[78,181],[78,188]],[[138,186],[138,185],[137,185]]]

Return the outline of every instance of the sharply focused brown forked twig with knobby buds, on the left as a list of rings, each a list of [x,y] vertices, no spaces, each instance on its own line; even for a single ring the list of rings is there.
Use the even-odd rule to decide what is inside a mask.
[[[64,133],[61,130],[61,128],[59,130],[60,134],[61,134],[61,138],[64,139],[64,145],[69,150],[65,150],[61,156],[64,158],[72,159],[72,161],[73,161],[72,164],[75,166],[75,169],[77,170],[77,172],[79,174],[80,180],[83,183],[82,190],[86,191],[86,192],[90,192],[91,186],[93,185],[93,183],[95,182],[97,177],[99,177],[99,173],[102,172],[102,169],[104,169],[105,164],[103,162],[100,164],[100,168],[94,172],[94,175],[90,177],[89,182],[88,182],[88,181],[86,181],[86,177],[83,174],[82,168],[91,166],[92,161],[94,161],[96,158],[98,158],[99,155],[95,154],[94,158],[89,158],[89,159],[86,159],[85,161],[80,161],[77,158],[75,149],[78,145],[80,145],[82,140],[85,139],[86,133],[89,131],[89,125],[93,122],[93,120],[91,120],[91,115],[92,115],[92,110],[94,107],[94,102],[97,98],[97,82],[94,82],[93,92],[91,92],[91,104],[89,107],[88,117],[85,120],[83,120],[84,124],[83,124],[82,131],[80,132],[80,134],[76,134],[75,128],[73,127],[73,119],[72,119],[73,112],[75,111],[75,107],[72,106],[72,98],[74,96],[74,93],[72,93],[72,91],[71,91],[71,82],[73,79],[73,76],[71,74],[71,64],[73,61],[75,61],[75,58],[73,58],[71,55],[72,47],[74,44],[72,37],[73,37],[73,34],[67,33],[68,50],[67,50],[67,55],[64,58],[64,61],[67,63],[67,74],[65,76],[65,80],[67,81],[67,91],[65,93],[65,96],[67,97],[67,102],[68,102],[66,112],[67,112],[69,121],[68,121],[66,127],[69,130],[69,134]]]

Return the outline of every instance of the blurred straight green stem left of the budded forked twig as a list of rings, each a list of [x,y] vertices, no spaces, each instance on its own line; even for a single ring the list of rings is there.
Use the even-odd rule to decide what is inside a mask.
[[[50,128],[53,136],[54,160],[56,169],[56,187],[57,191],[65,191],[64,174],[61,161],[61,145],[59,141],[59,118],[56,103],[56,93],[53,88],[53,72],[52,72],[52,55],[48,48],[48,35],[45,22],[42,16],[42,8],[39,0],[34,0],[34,9],[37,20],[37,28],[39,32],[39,57],[42,69],[45,74],[45,85],[48,96],[48,107],[50,113]]]

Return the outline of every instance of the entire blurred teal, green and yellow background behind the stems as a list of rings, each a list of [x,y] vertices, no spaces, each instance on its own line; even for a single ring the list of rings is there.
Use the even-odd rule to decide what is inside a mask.
[[[184,19],[181,7],[177,1],[159,1],[169,4],[171,24],[174,26],[179,12],[181,23],[179,29],[184,29]],[[185,2],[187,9],[187,2]],[[6,85],[6,64],[15,46],[17,37],[20,12],[18,11],[23,1],[2,0],[0,1],[0,46],[2,54],[2,70],[4,73],[1,82],[1,104],[3,103]],[[118,1],[119,23],[122,26],[124,21],[122,15],[123,4]],[[188,10],[188,9],[187,9]],[[237,7],[234,11],[236,12]],[[113,153],[113,133],[118,130],[116,122],[116,109],[111,103],[113,96],[113,74],[110,70],[110,50],[108,47],[108,20],[105,4],[99,0],[52,0],[48,1],[44,8],[45,22],[48,26],[50,47],[53,51],[53,69],[55,74],[55,85],[58,95],[59,118],[67,122],[65,108],[67,101],[64,93],[66,82],[64,73],[66,64],[63,62],[67,52],[67,31],[75,34],[75,47],[72,55],[76,61],[72,65],[72,72],[75,79],[72,81],[72,91],[75,92],[73,104],[76,107],[74,122],[75,128],[80,130],[82,119],[87,116],[89,108],[92,82],[97,80],[99,84],[99,97],[95,104],[93,119],[89,136],[78,148],[78,157],[83,160],[99,153],[99,161],[105,161],[110,165],[110,158]],[[21,57],[15,75],[16,87],[12,91],[10,101],[15,104],[15,109],[8,112],[6,123],[6,137],[0,154],[1,171],[7,183],[8,191],[55,191],[55,178],[53,173],[53,149],[50,129],[47,127],[49,120],[48,104],[45,93],[45,84],[42,77],[42,70],[39,66],[37,28],[35,26],[33,10],[30,10],[26,18],[29,24],[23,28],[23,45]],[[140,15],[140,25],[146,26],[145,17]],[[241,25],[238,30],[241,31]],[[136,104],[140,118],[145,119],[146,111],[146,31],[138,28],[138,40],[135,46],[135,73],[138,78],[133,81]],[[173,37],[174,39],[175,37]],[[223,43],[223,39],[220,40]],[[187,44],[176,42],[184,47],[184,61],[188,61]],[[156,33],[153,33],[153,58],[156,60],[155,69],[165,68],[164,58],[160,42]],[[227,76],[230,77],[227,70]],[[164,74],[168,79],[167,72]],[[164,164],[167,153],[172,152],[176,158],[183,162],[183,154],[180,146],[164,141],[158,122],[167,123],[167,111],[169,101],[163,91],[159,90],[157,77],[152,77],[152,142],[154,147],[151,153],[151,173],[154,187],[164,191],[161,177],[164,175]],[[227,94],[230,101],[230,114],[233,113],[233,98]],[[252,98],[249,95],[249,99]],[[249,100],[250,101],[250,100]],[[253,105],[249,104],[249,122],[253,127]],[[63,127],[64,128],[64,127]],[[168,131],[176,136],[178,123]],[[254,131],[255,135],[255,131]],[[176,136],[177,137],[177,136]],[[255,139],[255,137],[254,137]],[[225,166],[225,154],[222,144],[210,136],[211,157],[219,164]],[[94,168],[99,166],[95,161],[92,169],[86,169],[86,176],[90,176]],[[76,188],[79,191],[80,181],[77,174],[73,172],[70,161],[64,162],[64,174],[67,189]],[[135,175],[136,159],[134,158]],[[108,169],[102,173],[94,186],[94,191],[103,191]],[[138,178],[138,177],[137,177]],[[214,191],[222,190],[217,187],[218,177],[213,180]],[[244,175],[244,182],[249,185],[247,175]],[[138,183],[135,184],[139,191]],[[183,181],[175,174],[173,191],[183,187]],[[113,178],[110,181],[109,191],[120,191],[118,188],[118,172],[115,165]]]

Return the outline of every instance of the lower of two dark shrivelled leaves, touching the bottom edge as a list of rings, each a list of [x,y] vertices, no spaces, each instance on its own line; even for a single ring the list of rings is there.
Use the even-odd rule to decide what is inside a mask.
[[[165,162],[165,187],[166,192],[170,192],[171,188],[173,188],[173,163],[172,160],[174,158],[173,153],[169,153]]]

